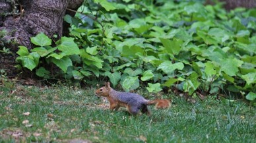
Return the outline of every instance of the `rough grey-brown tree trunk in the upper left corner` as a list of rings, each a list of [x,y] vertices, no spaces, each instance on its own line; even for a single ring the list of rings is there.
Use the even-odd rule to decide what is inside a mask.
[[[63,22],[67,8],[76,10],[82,2],[83,0],[0,0],[0,50],[7,47],[15,53],[18,45],[30,49],[30,37],[40,32],[44,32],[49,38],[54,34],[60,38],[63,29],[67,30],[68,26]],[[14,57],[6,57],[0,52],[0,69],[11,72],[14,62]]]

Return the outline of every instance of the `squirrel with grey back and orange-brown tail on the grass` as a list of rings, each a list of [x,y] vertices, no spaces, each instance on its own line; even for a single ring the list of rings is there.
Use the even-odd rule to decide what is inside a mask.
[[[110,87],[110,82],[99,88],[95,92],[96,96],[103,96],[110,101],[110,110],[117,110],[119,107],[126,107],[131,115],[137,115],[139,111],[150,115],[147,105],[156,104],[157,109],[166,109],[170,107],[169,100],[146,100],[139,94],[130,92],[117,92]]]

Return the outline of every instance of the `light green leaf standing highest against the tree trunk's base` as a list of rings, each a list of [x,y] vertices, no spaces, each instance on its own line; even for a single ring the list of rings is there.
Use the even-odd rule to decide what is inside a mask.
[[[41,47],[51,45],[51,39],[48,38],[48,36],[46,36],[44,33],[40,33],[36,35],[36,37],[32,37],[30,39],[32,43],[35,45],[40,45]]]

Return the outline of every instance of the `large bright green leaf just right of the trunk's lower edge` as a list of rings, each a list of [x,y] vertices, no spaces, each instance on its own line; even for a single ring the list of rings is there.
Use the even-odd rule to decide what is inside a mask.
[[[57,49],[62,51],[61,55],[78,55],[80,53],[77,43],[74,42],[74,38],[62,37],[60,44],[57,45]]]

